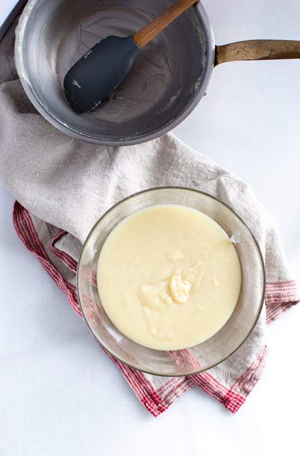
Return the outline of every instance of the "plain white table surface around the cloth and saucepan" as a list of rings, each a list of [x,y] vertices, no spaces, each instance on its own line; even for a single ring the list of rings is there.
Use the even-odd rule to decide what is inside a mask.
[[[300,40],[299,0],[203,4],[218,45]],[[174,133],[251,185],[300,283],[300,60],[218,66]],[[267,366],[235,415],[193,388],[155,419],[17,238],[13,203],[0,181],[1,456],[300,454],[299,306],[269,327]]]

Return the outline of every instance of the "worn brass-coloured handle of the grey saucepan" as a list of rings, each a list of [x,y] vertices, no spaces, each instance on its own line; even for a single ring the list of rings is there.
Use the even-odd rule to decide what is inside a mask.
[[[216,46],[215,66],[235,60],[300,59],[300,41],[249,40]]]

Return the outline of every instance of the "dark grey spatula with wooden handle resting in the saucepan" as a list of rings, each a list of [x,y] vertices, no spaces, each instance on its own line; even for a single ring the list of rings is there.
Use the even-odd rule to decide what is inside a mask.
[[[141,49],[194,3],[178,0],[134,35],[108,36],[85,53],[64,78],[71,108],[80,114],[98,106],[124,79]]]

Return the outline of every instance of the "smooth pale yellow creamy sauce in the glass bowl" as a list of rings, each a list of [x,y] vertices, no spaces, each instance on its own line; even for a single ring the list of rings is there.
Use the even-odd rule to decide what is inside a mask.
[[[179,350],[215,334],[238,300],[241,270],[221,226],[195,209],[158,205],[115,227],[100,252],[102,305],[127,337]]]

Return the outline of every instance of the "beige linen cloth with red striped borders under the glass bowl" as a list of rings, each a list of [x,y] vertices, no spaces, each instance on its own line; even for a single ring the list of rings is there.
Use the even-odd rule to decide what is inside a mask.
[[[114,148],[55,129],[23,91],[13,60],[14,28],[0,43],[1,176],[16,198],[17,234],[78,315],[75,276],[82,242],[103,212],[130,194],[156,186],[196,188],[234,208],[252,230],[265,258],[266,298],[258,323],[237,352],[209,371],[173,378],[144,374],[111,357],[155,416],[193,386],[236,412],[265,365],[267,325],[299,300],[274,220],[246,182],[172,133]]]

